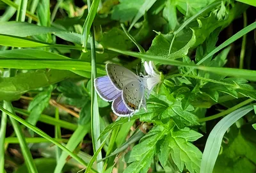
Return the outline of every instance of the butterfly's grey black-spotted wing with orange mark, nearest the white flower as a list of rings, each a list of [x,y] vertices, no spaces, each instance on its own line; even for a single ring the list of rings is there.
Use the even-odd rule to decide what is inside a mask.
[[[139,110],[140,106],[145,104],[145,88],[140,80],[124,86],[122,98],[129,110]]]

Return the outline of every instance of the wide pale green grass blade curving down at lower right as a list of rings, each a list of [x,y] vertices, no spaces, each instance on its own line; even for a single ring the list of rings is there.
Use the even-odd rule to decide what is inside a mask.
[[[253,110],[253,105],[241,107],[225,116],[218,124],[216,124],[216,126],[214,126],[205,145],[201,162],[201,173],[212,172],[224,134],[232,124],[236,123],[239,118],[245,116],[251,110]]]

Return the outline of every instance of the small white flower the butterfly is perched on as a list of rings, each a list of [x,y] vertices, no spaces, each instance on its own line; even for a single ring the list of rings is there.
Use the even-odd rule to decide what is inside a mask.
[[[156,66],[152,61],[145,61],[144,63],[145,71],[148,73],[146,76],[147,89],[152,91],[152,89],[162,80],[161,73],[156,69]]]

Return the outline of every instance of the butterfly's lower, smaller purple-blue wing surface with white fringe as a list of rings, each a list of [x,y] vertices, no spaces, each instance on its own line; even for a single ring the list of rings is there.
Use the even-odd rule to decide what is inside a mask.
[[[120,117],[129,117],[132,116],[132,114],[134,113],[134,111],[127,109],[124,101],[122,100],[121,94],[112,103],[112,110],[117,116]]]

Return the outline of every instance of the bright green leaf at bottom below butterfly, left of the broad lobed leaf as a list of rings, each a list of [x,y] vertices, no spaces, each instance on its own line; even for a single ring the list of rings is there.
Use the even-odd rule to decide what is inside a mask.
[[[164,133],[166,131],[162,126],[154,126],[141,139],[142,142],[133,147],[127,160],[128,163],[132,163],[124,170],[124,173],[147,172],[152,158],[156,153],[156,144],[163,137]]]

